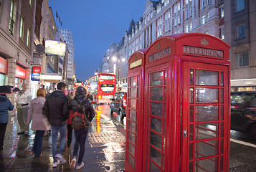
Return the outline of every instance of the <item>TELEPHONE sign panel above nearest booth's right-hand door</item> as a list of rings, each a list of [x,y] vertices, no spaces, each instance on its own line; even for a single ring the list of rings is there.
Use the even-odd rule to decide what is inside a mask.
[[[186,45],[183,46],[183,53],[203,55],[203,56],[209,56],[209,57],[219,57],[219,58],[224,57],[223,51],[220,51],[217,49],[205,49],[205,48],[191,47]]]

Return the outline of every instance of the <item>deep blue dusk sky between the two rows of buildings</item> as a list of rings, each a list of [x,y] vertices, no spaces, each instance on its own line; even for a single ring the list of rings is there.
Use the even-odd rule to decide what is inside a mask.
[[[120,42],[131,19],[143,17],[146,0],[49,0],[57,27],[69,29],[75,44],[76,75],[87,80],[100,67],[110,44]]]

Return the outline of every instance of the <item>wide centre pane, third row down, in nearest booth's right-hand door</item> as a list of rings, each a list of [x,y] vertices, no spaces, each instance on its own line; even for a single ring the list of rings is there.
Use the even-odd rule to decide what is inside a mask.
[[[196,122],[219,120],[219,106],[196,106]]]

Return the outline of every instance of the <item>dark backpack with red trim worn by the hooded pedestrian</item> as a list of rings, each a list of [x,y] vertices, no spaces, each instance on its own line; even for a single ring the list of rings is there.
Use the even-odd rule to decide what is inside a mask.
[[[87,120],[87,115],[85,114],[85,103],[89,101],[87,99],[83,100],[82,103],[77,104],[77,110],[72,114],[71,127],[75,130],[85,128],[85,125],[89,125],[90,122]]]

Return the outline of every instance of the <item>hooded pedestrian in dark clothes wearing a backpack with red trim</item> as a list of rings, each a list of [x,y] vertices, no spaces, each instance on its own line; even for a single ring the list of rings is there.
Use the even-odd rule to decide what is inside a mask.
[[[75,130],[75,145],[73,150],[70,168],[80,169],[84,166],[82,158],[85,154],[85,140],[89,129],[90,122],[95,117],[93,103],[86,97],[87,91],[84,87],[77,87],[75,98],[70,101],[70,109],[73,112],[71,126]],[[80,148],[78,160],[77,151]]]

